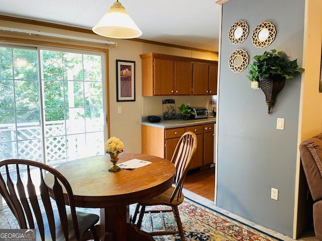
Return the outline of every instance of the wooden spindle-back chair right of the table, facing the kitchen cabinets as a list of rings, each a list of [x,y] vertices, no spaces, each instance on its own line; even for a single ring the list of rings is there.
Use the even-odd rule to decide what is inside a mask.
[[[150,229],[151,229],[150,234],[152,236],[179,233],[181,240],[183,241],[185,240],[184,231],[182,228],[182,223],[181,223],[180,214],[178,210],[178,205],[180,205],[184,200],[184,194],[182,193],[183,183],[184,183],[186,174],[188,172],[191,160],[196,152],[197,142],[198,142],[197,137],[193,132],[186,132],[185,134],[182,135],[182,137],[180,138],[176,146],[175,152],[171,158],[171,162],[176,167],[174,185],[164,193],[154,198],[137,203],[134,211],[134,215],[132,218],[132,222],[135,223],[137,214],[139,214],[138,221],[136,223],[136,226],[138,228],[141,228],[144,213],[149,213]],[[151,208],[149,208],[148,210],[145,209],[146,206],[155,206],[155,205],[165,205],[165,206],[171,207],[171,209],[170,208],[165,208],[162,210],[151,209]],[[178,230],[167,230],[165,219],[163,216],[164,212],[173,212],[175,220],[178,225]],[[151,213],[160,213],[160,218],[162,219],[161,222],[163,224],[164,230],[153,231]]]

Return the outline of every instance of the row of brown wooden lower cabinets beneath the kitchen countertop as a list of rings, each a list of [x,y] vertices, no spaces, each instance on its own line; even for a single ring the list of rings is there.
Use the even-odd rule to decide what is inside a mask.
[[[158,156],[170,161],[180,137],[188,131],[195,133],[198,139],[196,154],[189,169],[213,163],[214,124],[171,129],[142,125],[142,154]]]

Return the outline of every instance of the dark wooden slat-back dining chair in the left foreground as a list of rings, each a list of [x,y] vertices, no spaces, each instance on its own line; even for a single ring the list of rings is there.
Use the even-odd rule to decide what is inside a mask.
[[[56,169],[40,162],[11,159],[0,162],[0,173],[1,195],[20,228],[36,229],[37,240],[82,240],[89,229],[92,238],[100,240],[94,226],[99,216],[75,210],[72,189]],[[44,175],[54,176],[52,194]]]

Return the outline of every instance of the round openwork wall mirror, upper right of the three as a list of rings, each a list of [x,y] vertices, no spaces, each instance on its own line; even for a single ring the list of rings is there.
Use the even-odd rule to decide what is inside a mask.
[[[252,42],[257,48],[265,48],[274,41],[275,35],[275,26],[270,22],[262,22],[253,30]]]

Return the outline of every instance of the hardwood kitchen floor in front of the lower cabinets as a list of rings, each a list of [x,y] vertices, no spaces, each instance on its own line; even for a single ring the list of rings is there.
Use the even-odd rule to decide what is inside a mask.
[[[215,199],[215,168],[190,170],[183,184],[185,189],[209,200]]]

